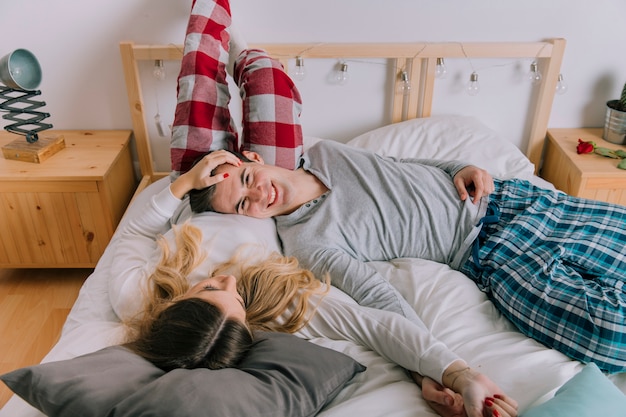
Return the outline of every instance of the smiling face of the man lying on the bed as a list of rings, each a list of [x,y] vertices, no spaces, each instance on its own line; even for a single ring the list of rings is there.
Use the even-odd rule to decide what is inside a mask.
[[[224,164],[217,173],[228,173],[228,178],[215,186],[212,205],[219,213],[242,214],[265,219],[287,214],[292,207],[296,190],[290,178],[293,171],[261,162],[245,162],[235,167]]]

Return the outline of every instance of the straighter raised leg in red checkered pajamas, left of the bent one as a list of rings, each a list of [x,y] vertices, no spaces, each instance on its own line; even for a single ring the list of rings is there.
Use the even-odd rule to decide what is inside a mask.
[[[178,76],[170,149],[173,175],[189,170],[209,150],[235,148],[226,80],[230,24],[227,0],[193,1]]]

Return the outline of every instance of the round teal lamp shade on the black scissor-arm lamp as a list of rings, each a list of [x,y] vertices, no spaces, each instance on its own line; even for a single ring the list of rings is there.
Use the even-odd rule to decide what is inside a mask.
[[[16,49],[0,58],[0,83],[19,90],[36,90],[41,83],[41,66],[35,55]]]

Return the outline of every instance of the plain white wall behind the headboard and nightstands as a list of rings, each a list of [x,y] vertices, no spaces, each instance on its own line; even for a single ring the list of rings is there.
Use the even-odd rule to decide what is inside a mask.
[[[131,127],[118,43],[182,43],[191,0],[2,3],[0,55],[27,48],[38,57],[44,72],[42,99],[54,127],[112,129]],[[562,72],[569,90],[555,99],[553,127],[602,126],[605,102],[617,98],[626,82],[623,0],[232,0],[231,4],[236,24],[249,42],[566,38]],[[479,70],[481,93],[469,97],[463,91],[471,72],[468,62],[449,63],[448,78],[438,84],[435,113],[477,114],[522,145],[525,127],[520,115],[528,111],[531,91],[519,77],[529,62],[472,64]],[[307,66],[307,78],[300,84],[306,134],[347,140],[387,122],[379,116],[379,104],[361,97],[363,90],[381,88],[368,80],[381,72],[384,76],[386,70],[376,62],[352,62],[350,69],[350,83],[341,95],[348,91],[354,100],[344,102],[338,87],[324,87],[327,92],[319,97],[316,92],[328,68]],[[149,117],[156,114],[158,100],[162,118],[171,123],[176,69],[170,68],[167,83],[158,85],[150,68],[145,72]],[[167,148],[167,138],[155,134],[154,140]],[[167,156],[157,163],[167,169]]]

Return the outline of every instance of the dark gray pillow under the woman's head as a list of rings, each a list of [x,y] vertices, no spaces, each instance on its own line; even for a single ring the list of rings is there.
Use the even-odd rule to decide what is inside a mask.
[[[114,346],[0,379],[48,416],[311,416],[364,369],[296,336],[259,332],[237,369],[164,373]]]

